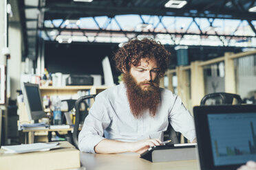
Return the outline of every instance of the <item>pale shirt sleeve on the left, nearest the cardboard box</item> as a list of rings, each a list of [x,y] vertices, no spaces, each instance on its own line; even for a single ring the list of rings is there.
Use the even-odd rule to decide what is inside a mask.
[[[104,139],[104,130],[109,126],[107,101],[103,95],[97,95],[88,116],[85,118],[83,128],[78,135],[80,151],[95,153],[94,147]]]

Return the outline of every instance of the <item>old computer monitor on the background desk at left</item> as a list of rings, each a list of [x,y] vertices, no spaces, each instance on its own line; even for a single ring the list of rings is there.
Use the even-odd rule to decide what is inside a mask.
[[[29,121],[37,122],[46,117],[38,84],[24,83],[23,96]]]

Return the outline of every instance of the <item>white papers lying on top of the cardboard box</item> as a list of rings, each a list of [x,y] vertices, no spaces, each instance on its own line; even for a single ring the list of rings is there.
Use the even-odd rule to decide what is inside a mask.
[[[58,143],[32,143],[23,145],[1,146],[1,149],[6,150],[5,154],[21,154],[32,151],[49,151],[50,149],[58,147]]]

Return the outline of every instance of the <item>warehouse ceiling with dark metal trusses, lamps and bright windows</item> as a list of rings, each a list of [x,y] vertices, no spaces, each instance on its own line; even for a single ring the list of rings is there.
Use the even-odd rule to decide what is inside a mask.
[[[256,0],[19,0],[27,56],[43,40],[256,47]]]

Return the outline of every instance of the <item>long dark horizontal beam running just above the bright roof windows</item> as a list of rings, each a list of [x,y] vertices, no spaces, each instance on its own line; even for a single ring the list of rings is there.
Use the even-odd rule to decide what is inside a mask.
[[[191,10],[180,10],[171,8],[138,8],[138,7],[114,7],[114,6],[100,6],[100,5],[67,5],[54,4],[43,7],[45,10],[46,19],[61,19],[66,14],[72,14],[76,17],[86,16],[114,16],[122,14],[145,14],[156,16],[184,16],[196,18],[215,18],[215,19],[240,19],[240,20],[255,20],[256,14],[248,12],[233,12],[221,10],[218,12],[190,12]],[[63,14],[64,13],[64,14]]]

